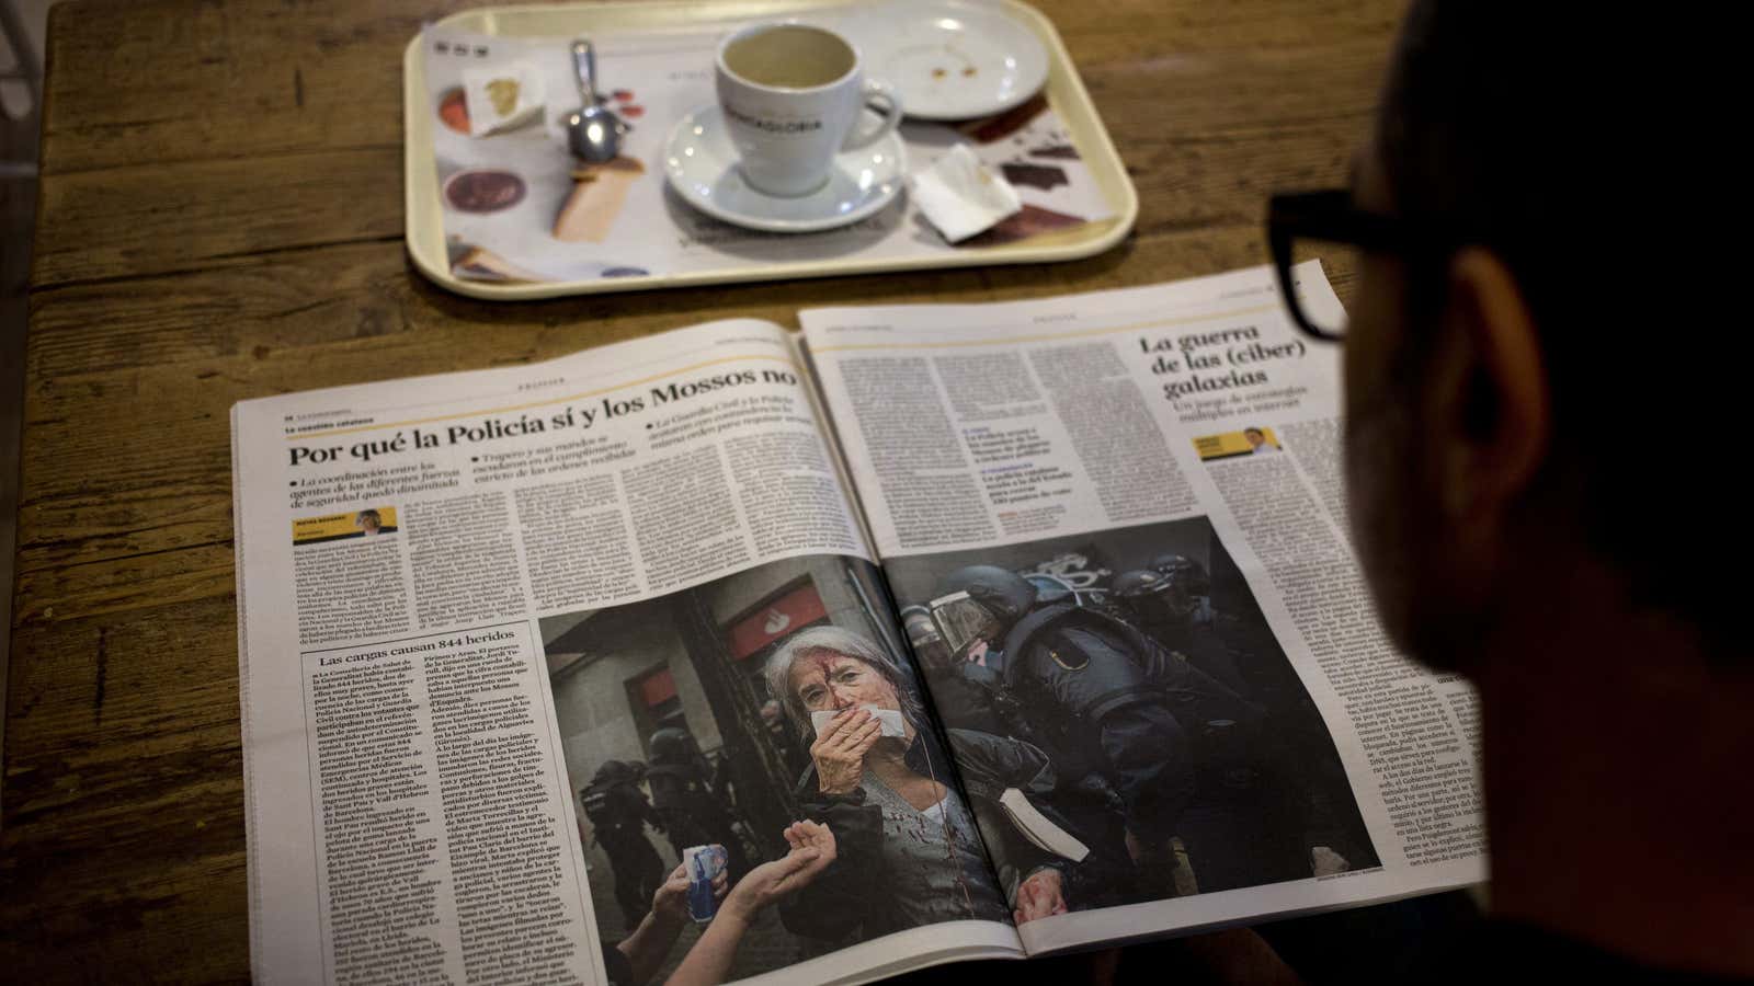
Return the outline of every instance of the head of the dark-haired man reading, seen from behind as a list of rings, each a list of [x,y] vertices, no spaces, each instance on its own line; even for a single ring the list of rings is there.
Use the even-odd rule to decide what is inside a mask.
[[[1417,0],[1356,158],[1356,205],[1419,246],[1366,251],[1359,267],[1352,528],[1391,633],[1438,665],[1472,667],[1480,635],[1531,605],[1535,579],[1566,589],[1551,579],[1568,560],[1612,567],[1636,605],[1719,609],[1722,581],[1672,528],[1677,484],[1712,456],[1679,432],[1722,418],[1710,400],[1728,407],[1700,379],[1712,368],[1673,347],[1703,328],[1675,318],[1707,288],[1670,274],[1703,195],[1689,188],[1698,140],[1663,114],[1628,116],[1691,96],[1628,72],[1614,47],[1591,54],[1594,21],[1614,18],[1589,21]],[[1638,277],[1605,270],[1626,240],[1659,254]]]

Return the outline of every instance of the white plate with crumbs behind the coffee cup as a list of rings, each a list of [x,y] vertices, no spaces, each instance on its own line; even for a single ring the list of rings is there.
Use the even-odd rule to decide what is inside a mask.
[[[1047,49],[993,4],[903,0],[856,28],[866,74],[895,86],[917,119],[1005,112],[1047,82]]]

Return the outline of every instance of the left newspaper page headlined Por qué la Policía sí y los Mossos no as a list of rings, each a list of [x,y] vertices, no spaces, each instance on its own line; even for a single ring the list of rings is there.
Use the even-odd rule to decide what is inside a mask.
[[[242,402],[233,484],[260,981],[1021,956],[779,326]]]

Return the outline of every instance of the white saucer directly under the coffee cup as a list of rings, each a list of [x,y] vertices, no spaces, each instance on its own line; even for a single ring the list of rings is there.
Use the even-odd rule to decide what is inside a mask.
[[[684,116],[670,132],[663,170],[670,188],[707,216],[770,233],[812,233],[858,223],[893,202],[907,174],[907,149],[891,132],[875,144],[837,154],[821,189],[781,198],[744,181],[724,116],[710,105]]]

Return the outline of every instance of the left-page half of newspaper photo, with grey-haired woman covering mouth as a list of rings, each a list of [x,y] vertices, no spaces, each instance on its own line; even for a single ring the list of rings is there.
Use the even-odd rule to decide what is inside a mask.
[[[924,925],[1009,933],[884,600],[868,561],[812,556],[540,621],[591,897],[619,905],[596,911],[605,940],[689,847],[723,846],[735,884],[816,826],[830,861],[751,925],[735,979]]]

